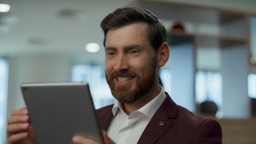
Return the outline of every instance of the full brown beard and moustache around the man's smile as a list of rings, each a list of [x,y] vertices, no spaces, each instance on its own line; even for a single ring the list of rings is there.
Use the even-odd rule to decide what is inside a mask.
[[[153,61],[150,63],[150,67],[146,68],[141,73],[138,73],[133,70],[127,70],[124,72],[113,71],[112,73],[106,73],[106,81],[108,82],[109,88],[111,89],[112,95],[120,103],[133,103],[139,98],[147,94],[154,86],[156,82],[156,58],[153,58]],[[115,84],[115,77],[134,77],[135,81],[126,86],[119,86]]]

